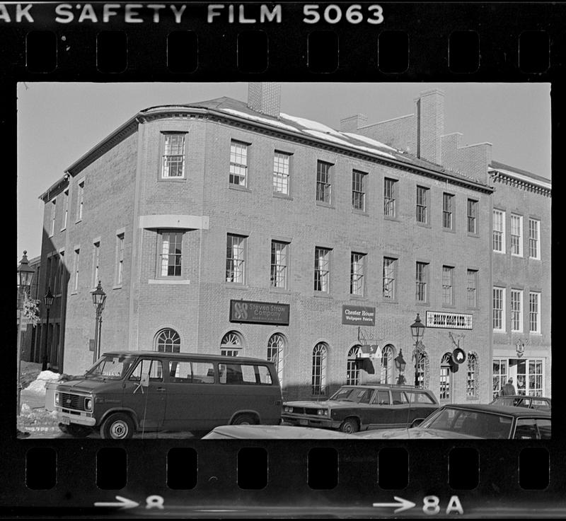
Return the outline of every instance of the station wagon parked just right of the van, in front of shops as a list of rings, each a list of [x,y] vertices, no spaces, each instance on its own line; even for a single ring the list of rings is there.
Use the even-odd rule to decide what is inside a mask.
[[[320,402],[284,402],[282,419],[297,426],[356,433],[410,426],[438,409],[432,391],[402,385],[344,385]]]

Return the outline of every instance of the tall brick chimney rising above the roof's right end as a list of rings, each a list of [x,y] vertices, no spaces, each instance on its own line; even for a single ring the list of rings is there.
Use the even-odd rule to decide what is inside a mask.
[[[415,99],[417,157],[442,163],[440,136],[444,134],[444,92],[426,90]]]

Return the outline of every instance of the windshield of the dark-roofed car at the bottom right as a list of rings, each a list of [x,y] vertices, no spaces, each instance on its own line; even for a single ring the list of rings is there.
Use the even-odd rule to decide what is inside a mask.
[[[512,417],[473,409],[443,407],[423,421],[419,428],[437,429],[479,438],[509,438]]]

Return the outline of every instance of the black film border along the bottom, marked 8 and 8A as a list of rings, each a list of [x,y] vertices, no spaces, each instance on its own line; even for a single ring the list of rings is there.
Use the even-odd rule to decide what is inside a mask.
[[[69,441],[69,440],[66,440]],[[564,458],[541,443],[289,443],[202,441],[104,446],[23,443],[6,463],[3,496],[18,514],[132,508],[175,513],[250,510],[287,517],[564,515]],[[533,446],[538,445],[538,446]],[[161,503],[160,503],[161,502]],[[4,498],[6,505],[6,498]],[[133,505],[136,503],[136,505]],[[1,512],[2,510],[0,510]],[[16,510],[4,508],[5,513]],[[81,513],[85,513],[81,511]],[[255,513],[255,514],[254,514]]]

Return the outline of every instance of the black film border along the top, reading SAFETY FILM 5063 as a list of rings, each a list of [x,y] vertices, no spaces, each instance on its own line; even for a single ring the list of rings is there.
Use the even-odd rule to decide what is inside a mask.
[[[28,80],[542,81],[565,54],[564,4],[0,6],[0,66]]]

